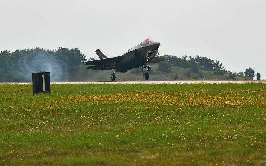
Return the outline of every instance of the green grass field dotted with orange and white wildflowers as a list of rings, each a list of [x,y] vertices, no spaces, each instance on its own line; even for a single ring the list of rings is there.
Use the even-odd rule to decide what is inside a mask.
[[[266,84],[0,86],[1,165],[266,165]]]

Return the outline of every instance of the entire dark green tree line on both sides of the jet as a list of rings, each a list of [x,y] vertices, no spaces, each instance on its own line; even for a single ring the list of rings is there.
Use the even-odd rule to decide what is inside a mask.
[[[212,60],[205,56],[187,57],[186,55],[172,56],[157,54],[156,56],[167,58],[167,61],[158,63],[160,72],[171,72],[172,66],[187,68],[186,75],[198,73],[198,77],[203,77],[200,70],[210,70],[215,75],[225,75],[225,79],[235,79],[236,75],[246,75],[253,79],[257,76],[260,79],[260,73],[255,74],[254,69],[246,68],[244,72],[231,72],[225,70],[222,63],[218,60]],[[31,72],[49,71],[51,81],[68,81],[78,70],[84,68],[81,62],[86,61],[85,55],[79,48],[63,48],[56,50],[46,50],[43,48],[18,49],[16,51],[0,52],[0,82],[31,82]],[[94,58],[90,58],[94,60]],[[133,74],[141,73],[141,68],[130,70]],[[151,70],[153,72],[153,70]],[[178,78],[178,73],[174,79]]]

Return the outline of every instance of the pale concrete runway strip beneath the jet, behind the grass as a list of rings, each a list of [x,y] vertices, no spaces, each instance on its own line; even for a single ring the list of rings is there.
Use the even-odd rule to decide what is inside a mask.
[[[244,84],[246,82],[266,83],[266,80],[215,80],[215,81],[99,81],[99,82],[51,82],[51,84]],[[32,84],[32,82],[2,82],[0,85],[7,84]]]

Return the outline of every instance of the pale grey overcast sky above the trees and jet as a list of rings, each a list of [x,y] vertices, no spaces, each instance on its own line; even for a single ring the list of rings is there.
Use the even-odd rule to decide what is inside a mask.
[[[0,51],[79,47],[119,56],[146,38],[159,53],[207,56],[266,79],[266,1],[0,1]],[[98,57],[97,57],[98,58]]]

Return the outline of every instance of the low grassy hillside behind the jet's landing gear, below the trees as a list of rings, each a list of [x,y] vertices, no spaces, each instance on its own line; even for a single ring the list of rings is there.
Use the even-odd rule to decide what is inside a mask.
[[[110,75],[113,73],[113,70],[108,71],[98,71],[98,70],[89,70],[86,69],[87,65],[82,65],[80,70],[75,72],[71,77],[70,81],[110,81]],[[175,75],[178,75],[178,80],[224,80],[224,75],[215,75],[212,70],[200,70],[198,73],[191,72],[191,76],[187,76],[186,72],[189,68],[181,68],[172,66],[172,70],[169,73],[161,72],[158,70],[158,64],[151,64],[151,71],[149,73],[149,81],[168,81],[174,80]],[[191,70],[191,69],[190,69]],[[145,72],[147,70],[145,69]],[[200,74],[201,73],[201,74]],[[243,80],[250,79],[246,76],[237,75],[235,79]],[[116,72],[116,81],[144,81],[144,77],[142,76],[142,72],[140,71],[138,74],[133,74],[130,71],[126,73]]]

